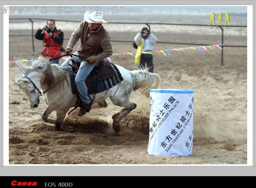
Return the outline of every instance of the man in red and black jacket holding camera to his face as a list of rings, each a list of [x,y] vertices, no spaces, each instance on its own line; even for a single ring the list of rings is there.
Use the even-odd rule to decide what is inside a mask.
[[[37,30],[35,38],[44,41],[44,49],[42,51],[44,57],[54,57],[55,54],[61,52],[64,34],[61,30],[57,30],[54,20],[49,19],[47,25],[43,25]],[[55,59],[52,63],[59,64],[59,60]]]

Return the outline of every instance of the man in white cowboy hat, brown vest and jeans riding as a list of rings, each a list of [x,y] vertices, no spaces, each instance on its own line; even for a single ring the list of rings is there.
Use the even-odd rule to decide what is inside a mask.
[[[79,56],[80,69],[77,72],[75,83],[81,98],[78,116],[84,115],[91,109],[91,98],[87,93],[85,79],[95,67],[96,63],[112,55],[112,44],[109,33],[102,26],[107,23],[102,19],[103,13],[89,11],[85,12],[84,20],[71,34],[66,51],[71,53],[76,42],[79,40],[77,52]],[[68,54],[68,53],[66,53]]]

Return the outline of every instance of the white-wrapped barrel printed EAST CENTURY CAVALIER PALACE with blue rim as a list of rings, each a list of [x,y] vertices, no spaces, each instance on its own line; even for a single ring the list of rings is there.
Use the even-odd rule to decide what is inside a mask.
[[[188,156],[193,146],[194,91],[150,89],[150,155]]]

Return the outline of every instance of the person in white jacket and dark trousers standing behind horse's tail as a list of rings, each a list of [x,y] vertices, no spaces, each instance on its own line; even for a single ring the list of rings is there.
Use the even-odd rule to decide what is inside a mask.
[[[149,52],[153,51],[153,44],[156,43],[157,37],[150,33],[150,31],[147,29],[147,27],[143,27],[141,32],[138,33],[134,37],[134,42],[139,45],[140,40],[142,41],[142,52]],[[147,63],[148,71],[153,73],[154,72],[154,66],[153,66],[153,55],[152,53],[142,53],[141,54],[141,61],[139,66],[145,68],[145,63]]]

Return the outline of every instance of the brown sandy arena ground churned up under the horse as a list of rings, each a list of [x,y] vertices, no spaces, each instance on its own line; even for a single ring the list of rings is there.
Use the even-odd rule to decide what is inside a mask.
[[[209,28],[207,28],[207,31]],[[245,30],[246,31],[246,30]],[[10,30],[11,34],[29,30]],[[69,38],[72,31],[64,33]],[[113,40],[132,40],[137,32],[109,32]],[[220,44],[219,35],[158,32],[158,41]],[[9,37],[9,59],[31,59],[31,37]],[[42,42],[35,40],[35,51]],[[224,43],[246,45],[246,35],[224,36]],[[64,41],[64,46],[68,40]],[[155,50],[192,45],[155,44]],[[113,42],[114,53],[134,52],[130,43]],[[130,55],[112,56],[115,64],[134,70]],[[108,107],[92,109],[78,117],[78,111],[66,116],[65,126],[73,131],[55,131],[38,108],[30,108],[25,93],[12,83],[16,65],[9,65],[9,163],[10,164],[246,164],[247,163],[247,49],[171,51],[171,58],[154,54],[154,71],[161,77],[159,88],[194,90],[194,140],[192,155],[165,157],[147,154],[149,100],[139,92],[130,100],[137,104],[122,120],[119,136],[111,128],[112,115],[121,111],[107,99]],[[55,117],[53,113],[51,117]]]

